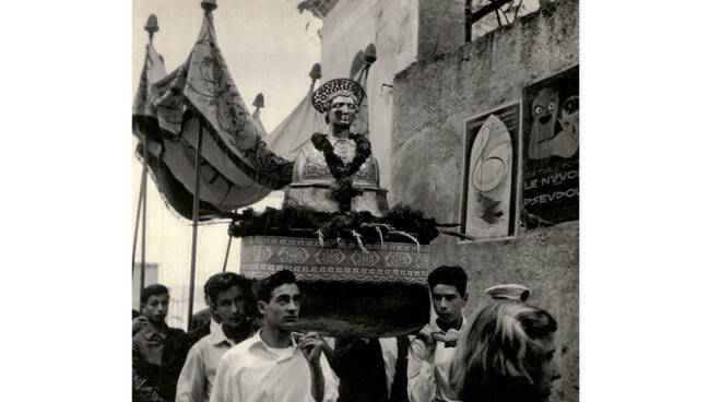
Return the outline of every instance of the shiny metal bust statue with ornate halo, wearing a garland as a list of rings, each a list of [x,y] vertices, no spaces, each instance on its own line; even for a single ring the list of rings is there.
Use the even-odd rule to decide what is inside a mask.
[[[364,97],[363,87],[348,79],[331,80],[314,93],[312,105],[324,115],[328,133],[315,133],[312,142],[298,152],[283,206],[367,211],[375,216],[388,211],[387,191],[379,187],[378,162],[370,142],[351,132]]]

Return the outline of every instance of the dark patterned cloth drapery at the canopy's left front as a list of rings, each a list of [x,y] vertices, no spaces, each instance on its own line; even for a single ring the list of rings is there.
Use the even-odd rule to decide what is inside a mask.
[[[169,179],[181,184],[192,197],[194,153],[202,131],[200,200],[211,205],[210,210],[244,208],[285,187],[291,182],[293,164],[269,150],[262,141],[264,129],[258,122],[217,48],[211,13],[204,14],[188,59],[172,73],[165,73],[162,57],[152,45],[147,46],[133,103],[133,133],[147,139],[149,151],[157,158],[154,166],[162,163],[167,168],[163,174],[152,170],[156,184],[169,172]],[[177,199],[187,197],[182,191],[163,197],[169,205],[187,203]],[[169,202],[170,197],[176,202]]]

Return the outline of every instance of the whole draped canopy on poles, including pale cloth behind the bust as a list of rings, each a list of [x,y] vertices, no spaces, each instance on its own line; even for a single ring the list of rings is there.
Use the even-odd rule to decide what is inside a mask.
[[[365,86],[368,67],[351,75]],[[146,56],[132,108],[132,129],[147,144],[147,167],[166,205],[192,218],[196,150],[202,135],[200,158],[200,220],[228,216],[251,205],[292,180],[293,159],[326,128],[310,97],[320,66],[314,66],[312,83],[295,109],[271,132],[260,121],[262,98],[250,114],[217,46],[213,15],[203,24],[186,61],[169,74],[163,58],[146,46]],[[367,132],[367,100],[361,105],[355,132]]]

